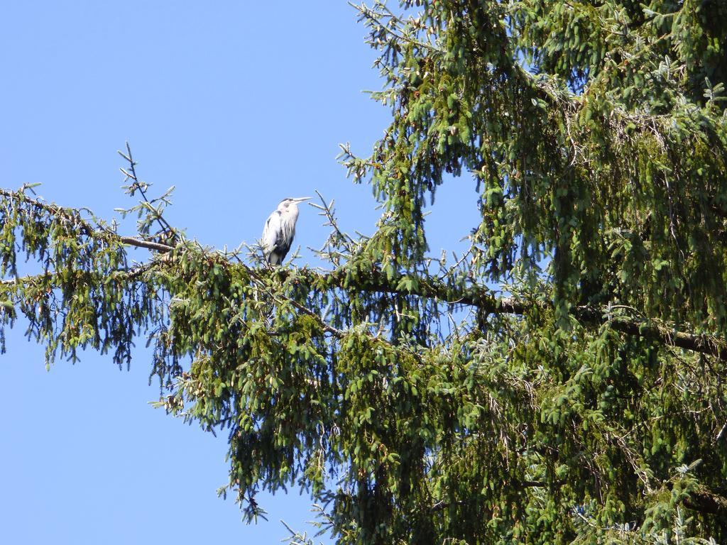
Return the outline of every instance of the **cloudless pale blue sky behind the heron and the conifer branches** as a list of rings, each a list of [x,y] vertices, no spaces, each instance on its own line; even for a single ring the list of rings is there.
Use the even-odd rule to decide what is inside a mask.
[[[380,86],[364,34],[343,0],[5,2],[0,186],[42,182],[48,201],[111,219],[132,204],[116,154],[128,140],[153,190],[177,186],[169,219],[201,243],[252,243],[281,198],[314,190],[336,199],[342,227],[371,233],[371,191],[335,161],[340,142],[366,153],[390,115],[361,92]],[[433,254],[461,247],[474,183],[443,187],[428,222]],[[325,238],[303,206],[302,262]],[[130,371],[87,352],[47,372],[23,324],[9,331],[0,543],[278,543],[279,519],[306,529],[297,491],[260,496],[270,522],[250,526],[217,498],[225,434],[151,408],[158,388],[137,344]]]

